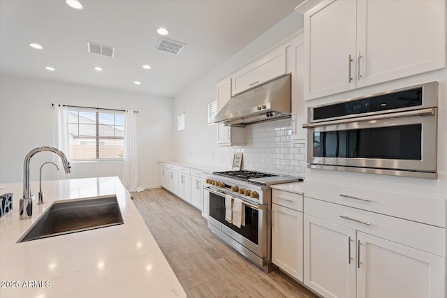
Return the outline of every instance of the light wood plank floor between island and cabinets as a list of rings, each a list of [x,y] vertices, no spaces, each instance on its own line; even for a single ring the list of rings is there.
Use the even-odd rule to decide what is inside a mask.
[[[316,297],[281,271],[267,274],[223,244],[198,209],[163,188],[132,195],[188,297]]]

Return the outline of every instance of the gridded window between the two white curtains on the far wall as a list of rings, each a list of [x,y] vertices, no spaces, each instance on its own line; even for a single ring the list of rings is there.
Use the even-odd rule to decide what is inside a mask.
[[[71,160],[122,159],[124,114],[70,108],[68,137]]]

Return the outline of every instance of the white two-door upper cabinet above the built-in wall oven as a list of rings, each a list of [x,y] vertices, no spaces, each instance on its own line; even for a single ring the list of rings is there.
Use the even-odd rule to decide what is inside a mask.
[[[323,1],[305,45],[305,100],[444,68],[446,1]]]

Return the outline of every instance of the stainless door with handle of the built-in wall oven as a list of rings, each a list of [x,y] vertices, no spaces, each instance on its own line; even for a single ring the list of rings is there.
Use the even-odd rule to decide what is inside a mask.
[[[308,124],[308,167],[436,178],[437,108]]]

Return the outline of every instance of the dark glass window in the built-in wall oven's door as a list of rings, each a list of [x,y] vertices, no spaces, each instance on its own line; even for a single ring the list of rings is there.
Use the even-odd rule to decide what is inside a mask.
[[[314,157],[420,161],[422,124],[314,133]]]

